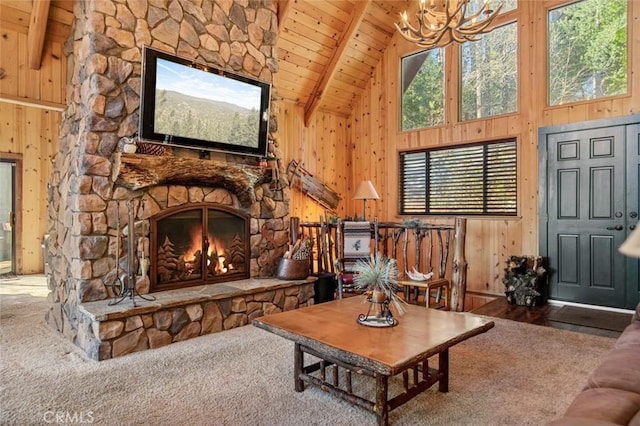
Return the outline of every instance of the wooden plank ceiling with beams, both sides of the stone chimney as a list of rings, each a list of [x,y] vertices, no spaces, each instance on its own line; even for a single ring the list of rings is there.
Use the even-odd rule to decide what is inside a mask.
[[[45,37],[65,41],[74,0],[2,0],[2,27],[28,33],[29,66],[40,67]],[[410,0],[279,0],[278,96],[348,116],[391,41]],[[35,5],[35,6],[34,6]],[[48,20],[45,17],[48,16]]]

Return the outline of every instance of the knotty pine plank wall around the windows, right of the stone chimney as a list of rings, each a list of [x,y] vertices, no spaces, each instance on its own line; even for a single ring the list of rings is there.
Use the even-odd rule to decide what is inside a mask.
[[[331,180],[336,173],[336,189],[345,196],[341,209],[353,215],[362,208],[349,200],[361,179],[371,179],[382,200],[369,202],[370,215],[381,220],[402,220],[398,215],[398,152],[415,148],[447,146],[516,137],[518,141],[519,216],[516,218],[470,218],[467,227],[467,260],[469,291],[480,294],[503,294],[502,275],[505,259],[512,254],[538,253],[538,129],[540,127],[624,116],[640,112],[640,2],[629,2],[628,39],[629,94],[615,98],[546,106],[546,16],[551,7],[566,1],[520,1],[519,8],[505,14],[499,23],[518,21],[519,40],[519,106],[515,114],[495,118],[457,121],[458,47],[448,47],[445,74],[448,116],[446,124],[421,131],[400,133],[399,58],[415,48],[398,36],[375,68],[369,87],[358,100],[346,122],[346,151],[342,159],[336,135],[319,123],[328,123],[327,113],[312,118],[308,129],[302,129],[302,114],[293,106],[289,114],[295,119],[279,120],[281,138],[293,153],[312,155],[312,173]],[[313,130],[312,130],[313,129]],[[290,138],[289,135],[295,135]],[[341,135],[342,137],[342,135]],[[331,149],[336,146],[340,158]],[[334,164],[348,164],[346,172]],[[335,168],[335,169],[334,169]],[[338,173],[340,173],[338,175]],[[339,177],[338,177],[339,176]],[[345,179],[342,182],[341,179]],[[295,191],[294,191],[295,195]],[[292,212],[305,212],[312,201],[292,198]],[[370,206],[370,207],[369,207]],[[317,215],[317,213],[314,213]],[[312,215],[313,216],[313,215]],[[429,218],[429,220],[439,218]]]

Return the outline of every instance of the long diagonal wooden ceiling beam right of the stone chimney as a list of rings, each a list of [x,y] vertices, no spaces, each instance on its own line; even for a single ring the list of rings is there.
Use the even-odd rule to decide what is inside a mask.
[[[324,91],[327,89],[329,82],[335,76],[336,70],[338,68],[338,64],[340,63],[340,59],[344,54],[344,51],[347,49],[349,45],[349,41],[353,38],[358,32],[358,28],[360,27],[360,23],[364,19],[364,14],[367,10],[367,6],[369,5],[368,1],[357,1],[355,2],[353,11],[351,12],[351,20],[347,24],[345,31],[342,33],[342,37],[338,42],[338,45],[333,51],[333,56],[331,60],[327,64],[324,72],[322,73],[322,78],[318,80],[316,86],[313,88],[311,92],[311,96],[309,96],[309,100],[304,107],[304,125],[309,125],[309,120],[313,114],[316,113],[318,107],[320,106],[320,101],[322,100],[322,96],[324,95]]]

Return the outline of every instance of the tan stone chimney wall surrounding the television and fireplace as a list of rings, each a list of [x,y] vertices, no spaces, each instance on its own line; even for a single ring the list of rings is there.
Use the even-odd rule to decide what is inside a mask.
[[[142,237],[148,236],[145,224],[154,213],[143,207],[150,205],[143,200],[153,200],[154,206],[227,200],[227,205],[242,208],[235,194],[218,188],[132,191],[114,183],[118,142],[138,131],[143,46],[270,83],[277,72],[276,12],[275,0],[74,3],[74,30],[66,46],[73,71],[49,180],[47,245],[47,322],[74,343],[82,321],[79,307],[112,297],[109,286],[116,278],[116,263],[126,263],[120,235],[127,232],[128,205],[135,209],[136,235],[141,232]],[[273,140],[276,107],[272,101]],[[277,142],[271,145],[278,149]],[[239,156],[226,160],[255,164],[255,159]],[[272,259],[287,243],[289,193],[286,187],[274,192],[267,184],[254,189],[258,199],[245,208],[253,218],[252,243],[259,244],[259,234],[267,232],[277,246],[252,254],[251,275],[269,276]],[[138,290],[144,293],[148,286],[138,283]]]

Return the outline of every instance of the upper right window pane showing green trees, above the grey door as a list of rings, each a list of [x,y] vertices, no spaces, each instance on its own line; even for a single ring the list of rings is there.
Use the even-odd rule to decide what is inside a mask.
[[[583,0],[548,18],[549,105],[627,92],[626,0]]]

